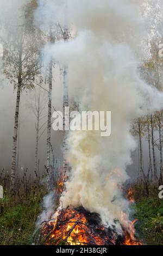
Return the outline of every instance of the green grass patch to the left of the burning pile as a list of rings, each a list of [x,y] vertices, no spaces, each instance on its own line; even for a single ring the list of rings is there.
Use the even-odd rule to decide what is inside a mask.
[[[0,201],[0,245],[32,244],[41,200],[42,194],[37,193],[15,205],[11,204],[11,199]]]

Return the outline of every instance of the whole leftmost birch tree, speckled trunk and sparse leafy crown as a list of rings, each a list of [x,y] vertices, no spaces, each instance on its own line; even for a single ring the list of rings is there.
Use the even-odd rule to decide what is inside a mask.
[[[11,160],[11,194],[15,191],[17,132],[22,90],[34,88],[35,77],[39,74],[40,31],[33,23],[32,1],[23,10],[21,24],[7,28],[8,38],[4,41],[4,73],[16,90],[16,107],[14,118],[14,135]]]

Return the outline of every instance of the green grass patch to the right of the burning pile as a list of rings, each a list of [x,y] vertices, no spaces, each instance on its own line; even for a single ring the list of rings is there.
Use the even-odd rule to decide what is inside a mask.
[[[163,244],[163,199],[142,197],[135,205],[135,216],[139,220],[139,233],[148,245]]]

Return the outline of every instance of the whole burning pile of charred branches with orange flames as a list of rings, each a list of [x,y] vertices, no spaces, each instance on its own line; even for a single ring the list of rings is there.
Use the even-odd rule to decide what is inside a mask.
[[[122,216],[126,217],[126,216]],[[43,245],[141,245],[134,237],[134,223],[130,232],[123,235],[101,225],[98,214],[86,211],[82,206],[58,211],[55,220],[42,223],[38,243]]]

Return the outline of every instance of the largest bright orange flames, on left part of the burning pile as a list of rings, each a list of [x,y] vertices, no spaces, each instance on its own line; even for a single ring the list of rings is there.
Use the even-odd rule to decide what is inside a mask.
[[[103,229],[92,230],[83,213],[67,208],[59,212],[54,222],[46,223],[42,233],[46,237],[47,245],[58,245],[62,242],[68,245],[104,245],[105,240],[99,235],[101,230]]]

